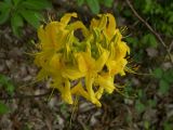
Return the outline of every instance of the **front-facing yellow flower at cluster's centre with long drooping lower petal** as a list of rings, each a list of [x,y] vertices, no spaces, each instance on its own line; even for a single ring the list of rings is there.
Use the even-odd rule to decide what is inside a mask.
[[[107,51],[104,51],[98,60],[93,58],[92,55],[86,52],[78,53],[76,55],[78,60],[79,70],[85,75],[85,87],[89,92],[90,100],[97,106],[101,106],[101,103],[95,98],[93,82],[95,77],[97,76],[97,73],[103,69],[108,58],[108,54],[109,53]]]

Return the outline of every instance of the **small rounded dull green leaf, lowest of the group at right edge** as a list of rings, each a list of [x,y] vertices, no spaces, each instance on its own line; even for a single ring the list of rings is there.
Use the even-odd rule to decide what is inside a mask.
[[[165,80],[160,80],[159,82],[159,92],[161,94],[167,94],[169,92],[170,84]]]

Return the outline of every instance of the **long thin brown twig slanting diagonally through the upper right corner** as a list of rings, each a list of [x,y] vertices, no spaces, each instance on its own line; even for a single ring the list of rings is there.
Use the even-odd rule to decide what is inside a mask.
[[[142,17],[139,16],[139,14],[135,11],[135,9],[133,8],[132,3],[130,2],[130,0],[127,0],[128,5],[130,6],[130,9],[132,10],[132,12],[134,13],[134,15],[156,36],[156,38],[160,41],[160,43],[165,48],[167,53],[170,57],[170,61],[173,65],[173,60],[171,57],[171,53],[169,51],[168,46],[164,43],[164,41],[162,40],[162,38],[160,37],[160,35]]]

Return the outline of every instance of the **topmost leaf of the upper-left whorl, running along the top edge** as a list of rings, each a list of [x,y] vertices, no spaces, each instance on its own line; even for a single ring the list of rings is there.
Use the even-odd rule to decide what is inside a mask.
[[[27,0],[22,3],[25,9],[41,11],[46,8],[52,8],[51,2],[46,0]]]

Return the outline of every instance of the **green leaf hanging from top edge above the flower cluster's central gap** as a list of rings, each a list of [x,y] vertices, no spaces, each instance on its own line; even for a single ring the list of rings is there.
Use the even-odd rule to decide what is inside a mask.
[[[98,14],[99,13],[99,3],[98,0],[86,0],[89,8],[91,9],[92,13]]]

